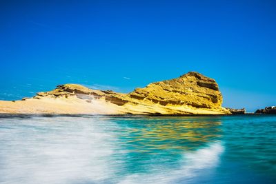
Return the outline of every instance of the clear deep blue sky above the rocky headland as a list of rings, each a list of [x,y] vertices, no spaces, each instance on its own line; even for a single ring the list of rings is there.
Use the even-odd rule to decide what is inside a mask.
[[[276,1],[0,1],[0,99],[62,83],[130,92],[189,71],[224,106],[276,105]]]

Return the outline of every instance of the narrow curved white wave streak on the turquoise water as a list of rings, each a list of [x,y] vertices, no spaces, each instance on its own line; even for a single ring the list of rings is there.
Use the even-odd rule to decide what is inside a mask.
[[[203,170],[212,170],[219,164],[219,156],[224,152],[222,143],[211,143],[208,147],[183,155],[183,161],[179,170],[166,170],[152,174],[132,174],[121,180],[120,184],[129,183],[188,183]]]

